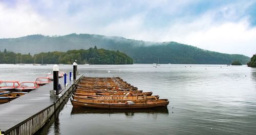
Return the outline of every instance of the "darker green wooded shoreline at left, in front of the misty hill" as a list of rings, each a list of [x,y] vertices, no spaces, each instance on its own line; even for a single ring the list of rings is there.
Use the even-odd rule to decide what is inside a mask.
[[[14,53],[12,51],[0,51],[0,64],[133,64],[132,58],[125,53],[114,51],[89,48],[88,50],[68,50],[67,52],[53,51],[41,52],[35,55]]]

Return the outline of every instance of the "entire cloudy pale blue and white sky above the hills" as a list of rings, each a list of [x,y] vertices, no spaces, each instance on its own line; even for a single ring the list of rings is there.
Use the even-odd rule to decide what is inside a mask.
[[[256,1],[0,0],[0,38],[98,34],[251,57]]]

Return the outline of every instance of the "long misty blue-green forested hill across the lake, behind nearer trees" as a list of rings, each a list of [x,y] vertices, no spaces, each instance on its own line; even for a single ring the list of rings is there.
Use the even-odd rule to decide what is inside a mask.
[[[177,42],[145,42],[122,37],[106,37],[90,34],[70,34],[66,36],[31,35],[20,38],[0,39],[1,51],[39,53],[48,51],[67,51],[71,49],[98,48],[119,50],[133,59],[134,63],[172,63],[172,64],[231,64],[250,61],[244,55],[229,55],[200,49]]]

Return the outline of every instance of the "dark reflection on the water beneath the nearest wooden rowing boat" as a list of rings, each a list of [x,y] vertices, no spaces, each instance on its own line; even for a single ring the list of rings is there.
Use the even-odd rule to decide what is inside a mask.
[[[152,109],[129,109],[129,110],[120,110],[120,109],[93,109],[87,107],[73,107],[71,115],[76,114],[125,114],[127,117],[133,117],[135,114],[146,113],[146,114],[168,114],[168,109],[166,106],[156,107]]]

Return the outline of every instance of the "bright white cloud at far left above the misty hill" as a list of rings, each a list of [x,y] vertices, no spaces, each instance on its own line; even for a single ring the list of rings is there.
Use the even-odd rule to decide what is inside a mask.
[[[48,22],[27,4],[18,4],[15,8],[7,8],[0,3],[0,37],[19,37],[37,34],[48,26]]]

